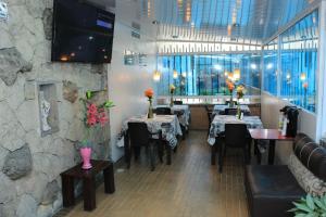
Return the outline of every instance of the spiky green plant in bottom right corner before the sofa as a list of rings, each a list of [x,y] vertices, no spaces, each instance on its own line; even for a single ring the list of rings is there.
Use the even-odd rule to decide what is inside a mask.
[[[294,214],[294,217],[326,217],[326,195],[312,196],[308,194],[298,202],[293,202],[294,208],[291,208],[290,213]]]

